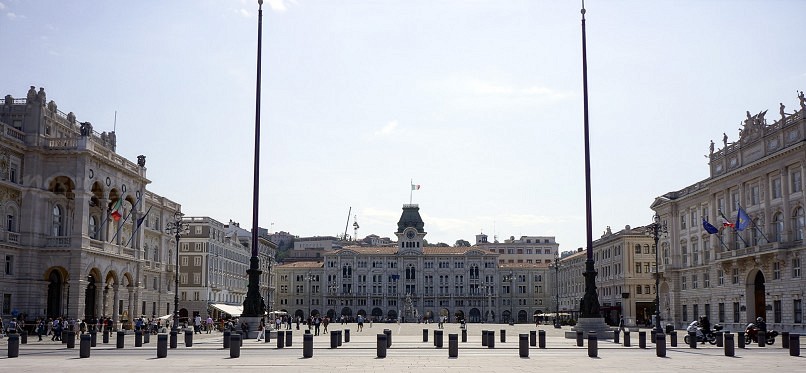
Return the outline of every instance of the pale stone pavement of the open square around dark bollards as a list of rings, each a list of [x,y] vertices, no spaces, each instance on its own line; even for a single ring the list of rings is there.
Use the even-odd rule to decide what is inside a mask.
[[[98,335],[97,347],[92,349],[89,358],[79,358],[79,342],[74,349],[65,344],[42,342],[33,336],[28,344],[20,345],[20,355],[8,358],[7,339],[0,340],[0,370],[4,372],[154,372],[155,370],[215,372],[228,371],[276,371],[276,372],[534,372],[549,369],[553,372],[576,372],[592,370],[596,372],[670,372],[682,369],[704,371],[758,372],[799,371],[803,369],[804,357],[791,357],[789,350],[781,348],[779,336],[773,346],[747,349],[736,348],[735,357],[726,357],[724,350],[711,345],[699,345],[690,349],[683,345],[683,333],[678,331],[678,347],[668,347],[667,357],[655,355],[655,345],[647,342],[646,349],[638,348],[638,333],[631,333],[632,347],[615,344],[612,340],[598,341],[597,358],[588,357],[587,340],[585,347],[577,347],[576,341],[565,339],[563,332],[568,327],[554,329],[550,325],[503,325],[468,324],[468,341],[461,342],[461,331],[457,324],[446,324],[443,330],[443,348],[437,349],[433,343],[433,330],[436,324],[379,324],[371,328],[365,324],[363,332],[352,325],[331,325],[330,330],[350,329],[351,341],[341,347],[330,348],[330,336],[314,338],[313,357],[302,357],[302,330],[293,330],[291,347],[277,349],[275,339],[270,343],[246,340],[239,358],[230,358],[229,350],[223,349],[221,333],[196,334],[193,347],[186,348],[180,333],[179,347],[168,349],[166,358],[158,359],[156,336],[151,337],[143,347],[134,347],[134,336],[126,336],[125,348],[115,348],[115,335],[110,344],[101,343]],[[376,335],[383,329],[392,331],[392,347],[387,357],[377,358]],[[428,342],[423,342],[423,329],[429,329]],[[546,331],[546,349],[529,348],[529,357],[519,357],[518,334],[528,334],[530,330]],[[481,344],[481,331],[495,331],[495,348]],[[506,342],[502,343],[500,331],[506,331]],[[459,334],[457,358],[448,357],[448,334]],[[649,332],[647,331],[647,338]],[[801,338],[803,341],[804,338]],[[623,340],[622,340],[623,342]],[[804,355],[806,356],[806,355]]]

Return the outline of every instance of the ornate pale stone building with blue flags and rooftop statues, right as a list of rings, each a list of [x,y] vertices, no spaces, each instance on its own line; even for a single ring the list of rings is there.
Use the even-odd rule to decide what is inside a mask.
[[[772,124],[766,111],[748,112],[738,141],[725,135],[716,150],[711,142],[707,179],[655,199],[651,207],[669,231],[661,243],[665,322],[681,327],[707,315],[736,330],[763,317],[769,328],[804,330],[802,92],[799,99],[800,110],[786,113],[781,104]],[[703,219],[718,232],[709,234]]]

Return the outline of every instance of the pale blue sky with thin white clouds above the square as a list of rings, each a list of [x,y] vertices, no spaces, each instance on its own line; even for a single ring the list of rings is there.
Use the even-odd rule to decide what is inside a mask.
[[[806,90],[806,1],[589,0],[593,232],[708,177]],[[267,0],[260,226],[585,246],[579,1]],[[0,0],[0,87],[48,100],[193,216],[251,227],[257,1]],[[771,122],[770,122],[771,123]],[[350,218],[352,225],[352,218]],[[350,227],[349,234],[352,234]]]

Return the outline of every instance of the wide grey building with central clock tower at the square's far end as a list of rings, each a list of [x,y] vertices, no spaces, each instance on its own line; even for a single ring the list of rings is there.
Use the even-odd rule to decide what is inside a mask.
[[[499,265],[481,247],[423,246],[418,205],[404,205],[395,246],[349,246],[277,268],[277,309],[299,317],[532,322],[551,301],[548,264]]]

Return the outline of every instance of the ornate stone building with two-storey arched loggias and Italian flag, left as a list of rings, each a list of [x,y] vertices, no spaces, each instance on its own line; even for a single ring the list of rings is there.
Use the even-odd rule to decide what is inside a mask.
[[[114,131],[78,122],[42,88],[5,96],[0,131],[0,313],[171,313],[175,242],[163,223],[181,207],[147,190],[145,156],[118,155]]]

